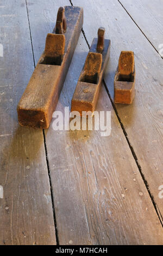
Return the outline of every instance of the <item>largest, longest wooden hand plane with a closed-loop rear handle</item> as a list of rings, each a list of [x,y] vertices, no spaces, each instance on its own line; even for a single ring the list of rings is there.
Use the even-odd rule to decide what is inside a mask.
[[[17,106],[20,125],[49,127],[82,26],[82,8],[59,8],[54,31],[47,34],[45,51]]]

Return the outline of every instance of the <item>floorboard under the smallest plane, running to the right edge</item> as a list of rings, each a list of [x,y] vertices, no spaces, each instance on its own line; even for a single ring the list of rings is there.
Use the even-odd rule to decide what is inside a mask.
[[[78,0],[74,1],[74,4],[79,3]],[[159,186],[163,180],[162,59],[120,3],[112,0],[92,0],[89,4],[92,6],[91,13],[87,8],[87,1],[82,2],[86,20],[83,29],[89,44],[96,29],[101,25],[106,28],[105,36],[109,36],[112,41],[109,65],[104,78],[112,99],[120,52],[134,52],[135,99],[132,105],[117,104],[116,108],[131,147],[136,153],[142,174],[153,194],[158,212],[163,215],[162,199],[159,198]]]

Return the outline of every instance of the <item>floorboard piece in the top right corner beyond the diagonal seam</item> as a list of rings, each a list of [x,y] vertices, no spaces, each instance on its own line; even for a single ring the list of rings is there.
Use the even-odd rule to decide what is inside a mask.
[[[119,0],[156,50],[163,48],[162,0]],[[163,55],[163,53],[162,53]]]

